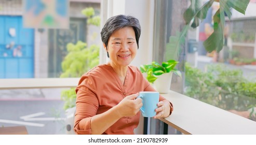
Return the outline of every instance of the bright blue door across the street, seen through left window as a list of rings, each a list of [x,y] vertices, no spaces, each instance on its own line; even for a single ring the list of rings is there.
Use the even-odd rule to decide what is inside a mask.
[[[0,16],[0,78],[34,77],[34,29],[21,16]]]

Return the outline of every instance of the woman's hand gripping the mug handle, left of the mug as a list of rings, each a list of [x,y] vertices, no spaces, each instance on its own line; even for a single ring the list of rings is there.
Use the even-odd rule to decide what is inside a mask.
[[[119,104],[116,106],[118,114],[121,117],[132,117],[136,115],[140,108],[142,107],[142,99],[136,98],[139,93],[126,96]]]

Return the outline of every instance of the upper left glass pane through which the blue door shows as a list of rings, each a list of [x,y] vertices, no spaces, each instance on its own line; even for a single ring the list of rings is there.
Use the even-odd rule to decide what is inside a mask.
[[[30,0],[25,2],[27,1],[28,3],[30,2]],[[47,3],[53,5],[58,2],[56,0]],[[36,1],[30,5],[35,4],[37,6],[39,3],[41,1]],[[69,28],[67,29],[24,27],[25,17],[22,16],[21,0],[1,1],[0,4],[0,79],[59,78],[67,71],[69,71],[69,74],[64,75],[64,77],[80,77],[82,72],[86,72],[99,62],[99,57],[97,56],[93,58],[86,57],[84,60],[81,58],[72,60],[74,57],[67,56],[74,51],[78,51],[79,47],[82,47],[79,50],[82,54],[86,53],[84,55],[88,55],[89,51],[83,51],[83,49],[92,47],[91,49],[98,51],[101,44],[100,27],[93,23],[97,22],[97,18],[100,15],[100,3],[98,1],[96,3],[70,2],[69,7],[66,8],[67,11],[70,11]],[[13,9],[14,7],[20,11],[16,11]],[[89,7],[93,8],[92,16],[86,16],[82,13],[82,10]],[[56,9],[58,8],[57,6]],[[38,15],[38,18],[36,18],[38,20],[45,20],[51,15],[51,18],[54,18],[51,11],[47,11],[43,5],[37,10],[34,12]],[[17,15],[14,16],[14,13],[17,13]],[[41,13],[44,16],[42,16],[43,18],[39,17]],[[48,13],[48,15],[44,13]],[[82,46],[81,44],[76,45],[79,41],[85,44]],[[70,51],[68,44],[70,44]],[[74,46],[72,47],[71,45]],[[83,57],[79,55],[81,53],[78,53],[76,57]],[[65,59],[66,63],[62,64]],[[84,67],[86,65],[80,66],[77,64],[78,60],[80,60],[79,63],[84,63],[83,61],[95,63],[86,64],[90,66]]]

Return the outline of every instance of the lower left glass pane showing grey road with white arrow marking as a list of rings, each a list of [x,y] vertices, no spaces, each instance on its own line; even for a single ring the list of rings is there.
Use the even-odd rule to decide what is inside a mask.
[[[25,126],[30,135],[68,133],[62,90],[0,90],[1,127]]]

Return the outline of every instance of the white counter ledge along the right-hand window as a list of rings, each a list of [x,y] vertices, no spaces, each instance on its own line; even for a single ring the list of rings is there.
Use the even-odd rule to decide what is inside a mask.
[[[161,94],[173,104],[172,114],[160,119],[183,134],[234,135],[256,134],[256,122],[170,91]]]

